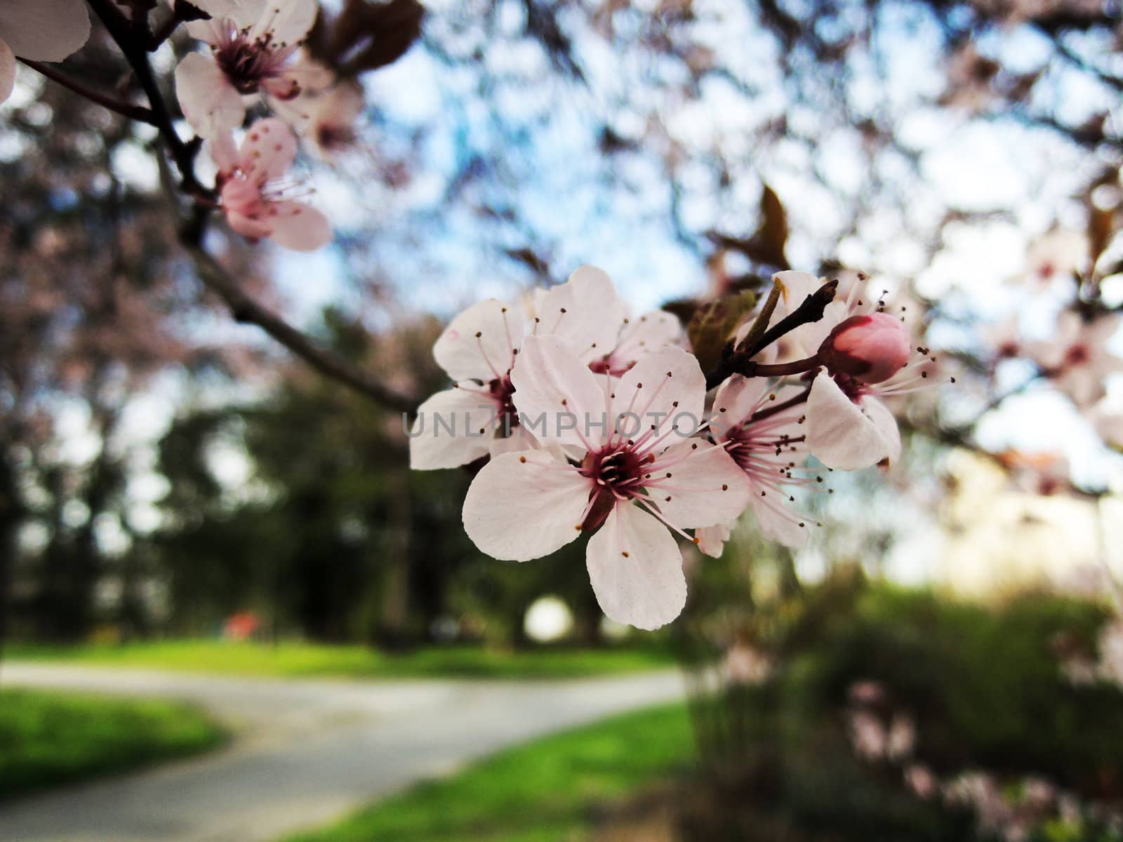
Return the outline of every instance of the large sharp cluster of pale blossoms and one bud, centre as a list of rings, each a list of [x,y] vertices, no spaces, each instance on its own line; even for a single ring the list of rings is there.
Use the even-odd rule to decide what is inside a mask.
[[[803,272],[774,281],[774,310],[734,342],[822,285]],[[809,457],[842,470],[900,457],[883,399],[922,383],[931,363],[916,361],[900,317],[865,286],[787,332],[783,349],[755,355],[755,376],[713,388],[677,318],[630,317],[601,269],[583,266],[520,304],[482,301],[436,342],[454,385],[420,406],[411,466],[480,467],[464,527],[494,558],[540,558],[591,533],[586,565],[604,613],[657,629],[686,601],[675,536],[718,556],[751,510],[765,537],[800,547],[812,524],[793,491],[824,479]]]

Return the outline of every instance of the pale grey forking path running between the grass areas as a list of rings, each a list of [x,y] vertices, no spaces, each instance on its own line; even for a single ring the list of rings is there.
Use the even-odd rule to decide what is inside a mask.
[[[6,685],[193,701],[226,749],[0,805],[3,842],[272,842],[497,749],[683,694],[567,680],[289,680],[9,662]]]

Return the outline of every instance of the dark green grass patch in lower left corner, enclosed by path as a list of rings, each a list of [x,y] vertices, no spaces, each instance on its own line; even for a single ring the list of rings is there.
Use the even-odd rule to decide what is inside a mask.
[[[185,757],[226,733],[190,705],[0,690],[0,798]]]

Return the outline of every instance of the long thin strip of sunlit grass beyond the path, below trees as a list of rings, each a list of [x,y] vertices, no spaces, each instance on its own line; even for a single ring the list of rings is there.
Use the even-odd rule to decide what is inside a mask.
[[[363,646],[168,640],[71,647],[12,644],[11,660],[70,661],[107,667],[172,669],[256,676],[356,678],[565,678],[657,669],[673,665],[660,648],[500,651],[483,647],[431,647],[387,655]]]

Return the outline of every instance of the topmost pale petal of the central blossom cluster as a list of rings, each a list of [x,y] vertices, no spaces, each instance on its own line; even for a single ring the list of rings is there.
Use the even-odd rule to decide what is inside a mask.
[[[609,354],[624,323],[624,304],[608,273],[582,266],[564,284],[549,290],[536,309],[537,336],[557,336],[577,358],[591,363]]]

